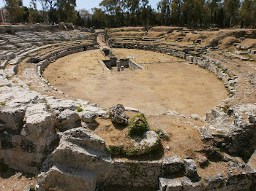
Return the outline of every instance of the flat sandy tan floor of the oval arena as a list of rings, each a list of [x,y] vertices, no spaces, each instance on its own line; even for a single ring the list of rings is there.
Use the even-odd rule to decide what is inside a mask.
[[[73,98],[106,108],[124,104],[147,114],[175,110],[186,116],[197,113],[203,117],[227,97],[223,82],[199,66],[157,52],[114,51],[121,57],[132,56],[138,63],[154,64],[147,64],[144,70],[127,69],[110,74],[98,63],[105,59],[101,52],[90,50],[51,63],[45,69],[44,78]]]

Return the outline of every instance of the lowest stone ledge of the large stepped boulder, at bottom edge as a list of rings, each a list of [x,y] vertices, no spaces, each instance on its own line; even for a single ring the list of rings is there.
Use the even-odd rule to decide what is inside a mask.
[[[46,173],[39,174],[38,190],[88,190],[94,191],[97,184],[97,174],[80,168],[68,168],[63,165],[53,165]]]

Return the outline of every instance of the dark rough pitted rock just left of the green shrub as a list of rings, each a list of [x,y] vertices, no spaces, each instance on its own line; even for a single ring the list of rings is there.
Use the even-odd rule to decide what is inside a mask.
[[[111,106],[108,111],[110,120],[112,122],[127,125],[129,117],[124,111],[125,111],[124,106],[121,104],[116,104],[116,105]]]

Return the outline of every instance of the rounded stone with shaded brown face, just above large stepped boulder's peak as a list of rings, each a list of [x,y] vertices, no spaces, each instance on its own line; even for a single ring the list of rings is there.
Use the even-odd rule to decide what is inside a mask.
[[[80,117],[77,112],[66,109],[56,118],[56,125],[60,130],[75,128],[79,125],[79,120]]]

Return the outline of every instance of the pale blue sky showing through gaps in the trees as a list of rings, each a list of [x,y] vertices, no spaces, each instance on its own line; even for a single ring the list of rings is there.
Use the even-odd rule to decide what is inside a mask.
[[[88,9],[91,10],[91,8],[99,7],[99,3],[102,0],[77,0],[77,7],[75,9]],[[148,0],[149,4],[151,4],[151,7],[154,9],[157,9],[157,3],[160,0]],[[23,5],[26,7],[29,7],[30,0],[23,0]],[[4,7],[4,0],[0,0],[0,7]],[[41,9],[41,7],[38,5],[38,9]]]

